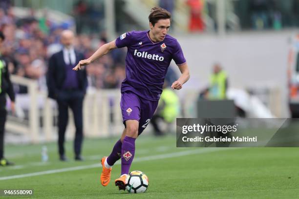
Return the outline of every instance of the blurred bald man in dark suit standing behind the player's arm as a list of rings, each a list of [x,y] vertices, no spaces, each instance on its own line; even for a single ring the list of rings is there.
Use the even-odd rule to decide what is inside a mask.
[[[60,160],[66,161],[64,153],[65,129],[68,122],[68,107],[71,108],[76,134],[74,141],[75,160],[83,160],[81,147],[83,141],[83,99],[87,87],[86,70],[73,71],[79,60],[85,59],[73,47],[74,33],[64,30],[61,34],[61,43],[64,48],[51,56],[47,73],[49,98],[55,99],[58,104],[58,147]]]

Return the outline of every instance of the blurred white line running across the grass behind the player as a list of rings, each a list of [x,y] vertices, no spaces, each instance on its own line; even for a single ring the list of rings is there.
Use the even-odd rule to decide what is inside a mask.
[[[181,152],[176,152],[176,153],[135,158],[134,162],[173,158],[173,157],[187,156],[187,155],[192,155],[192,154],[204,154],[204,153],[210,153],[210,152],[214,152],[214,151],[222,151],[222,150],[228,150],[228,149],[234,149],[234,148],[203,148],[200,150],[197,149],[197,150],[181,151]],[[115,164],[120,164],[120,163],[121,162],[118,161]],[[96,167],[102,167],[102,165],[99,163],[96,163],[96,164],[90,164],[90,165],[85,165],[85,166],[76,166],[76,167],[69,167],[69,168],[64,168],[64,169],[54,169],[54,170],[41,171],[41,172],[35,172],[35,173],[29,173],[29,174],[21,174],[21,175],[15,175],[15,176],[5,176],[5,177],[1,177],[0,180],[20,179],[20,178],[26,178],[26,177],[32,177],[32,176],[41,176],[41,175],[45,175],[45,174],[55,174],[55,173],[61,173],[61,172],[67,172],[67,171],[91,169],[91,168],[96,168]]]

